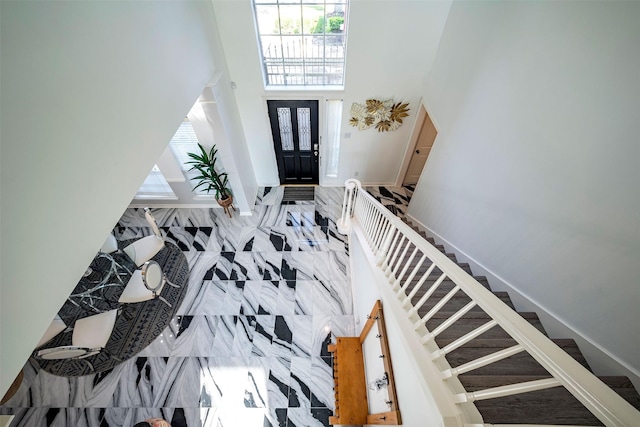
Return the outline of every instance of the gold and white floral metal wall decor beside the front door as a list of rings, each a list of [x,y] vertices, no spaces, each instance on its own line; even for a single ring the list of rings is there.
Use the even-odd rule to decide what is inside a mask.
[[[349,124],[359,130],[375,127],[378,132],[396,130],[402,119],[409,116],[409,103],[395,103],[393,99],[367,99],[364,104],[351,104]]]

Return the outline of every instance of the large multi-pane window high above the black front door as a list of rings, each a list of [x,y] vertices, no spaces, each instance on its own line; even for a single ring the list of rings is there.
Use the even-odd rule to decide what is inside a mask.
[[[267,86],[344,84],[348,0],[254,0]]]

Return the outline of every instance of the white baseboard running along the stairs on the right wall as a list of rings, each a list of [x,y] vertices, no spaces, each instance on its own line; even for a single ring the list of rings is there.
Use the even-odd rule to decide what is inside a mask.
[[[596,375],[626,376],[633,382],[636,390],[640,390],[640,372],[636,369],[619,360],[606,349],[591,342],[581,332],[563,322],[561,316],[544,308],[535,299],[516,289],[500,275],[493,273],[491,269],[485,267],[481,262],[466,254],[412,215],[407,214],[406,217],[424,230],[427,235],[433,237],[438,244],[444,245],[447,252],[454,253],[458,261],[468,263],[476,276],[486,276],[493,290],[509,292],[509,296],[518,311],[533,311],[537,313],[549,337],[574,339]]]

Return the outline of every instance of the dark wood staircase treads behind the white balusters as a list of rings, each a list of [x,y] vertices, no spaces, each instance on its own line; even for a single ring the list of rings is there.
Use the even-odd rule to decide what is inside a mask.
[[[473,275],[470,267],[466,263],[459,263],[454,254],[446,253],[444,246],[437,245],[435,241],[405,220],[411,228],[418,232],[425,240],[435,246],[441,253],[445,254],[453,262],[457,263],[463,270]],[[411,243],[406,243],[411,245]],[[403,248],[401,248],[402,250]],[[409,254],[411,248],[398,258],[400,265],[408,263],[411,271],[418,265],[415,258]],[[430,263],[423,263],[415,275],[415,279],[404,289],[405,295],[409,296],[418,284],[418,278],[422,273],[429,270]],[[411,296],[412,305],[424,296],[425,289],[429,289],[442,271],[435,267],[423,286],[415,289],[415,294]],[[491,287],[484,276],[474,276],[474,278],[485,288],[491,291]],[[447,277],[436,288],[426,303],[418,309],[418,314],[422,318],[439,301],[446,298],[455,284]],[[507,292],[493,292],[502,302],[515,310],[509,294]],[[429,331],[434,331],[446,319],[465,307],[471,299],[462,291],[456,292],[426,323]],[[419,305],[419,304],[418,304]],[[536,313],[518,312],[527,322],[546,335],[542,323]],[[477,305],[467,311],[457,322],[439,333],[435,341],[442,349],[447,344],[464,336],[468,332],[482,326],[490,320],[490,317]],[[561,347],[567,354],[578,361],[581,365],[590,370],[587,361],[580,352],[576,343],[571,339],[553,339],[555,344]],[[461,347],[449,352],[445,357],[452,371],[457,374],[467,392],[477,392],[493,387],[505,386],[509,384],[522,383],[525,381],[541,380],[552,378],[552,376],[527,352],[511,351],[517,342],[513,340],[500,326],[494,326],[475,339],[467,342]],[[503,358],[475,369],[466,363],[478,361],[479,358],[495,354],[496,352],[512,352],[509,357]],[[480,359],[482,360],[482,359]],[[460,369],[462,373],[455,372]],[[453,376],[455,377],[455,376]],[[636,409],[640,410],[640,395],[636,392],[633,384],[627,377],[605,376],[598,377],[622,398],[629,402]],[[571,393],[564,387],[553,387],[538,391],[531,391],[522,394],[515,394],[506,397],[497,397],[487,400],[477,400],[474,402],[476,408],[482,415],[484,422],[488,424],[543,424],[543,425],[580,425],[592,426],[603,425],[589,410],[587,410]],[[640,425],[640,419],[638,424]]]

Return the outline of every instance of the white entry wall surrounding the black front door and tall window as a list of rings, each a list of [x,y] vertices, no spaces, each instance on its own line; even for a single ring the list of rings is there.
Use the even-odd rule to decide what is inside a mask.
[[[349,11],[345,90],[301,93],[266,91],[251,0],[213,0],[229,74],[260,185],[277,185],[278,170],[266,99],[343,99],[339,174],[321,175],[323,185],[343,185],[359,172],[363,183],[391,184],[404,158],[420,99],[419,88],[435,57],[450,1],[352,0]],[[395,132],[358,131],[349,126],[353,102],[368,98],[410,102],[411,116]],[[323,132],[320,103],[320,132]],[[350,133],[350,138],[344,134]],[[321,148],[321,153],[323,152]]]

